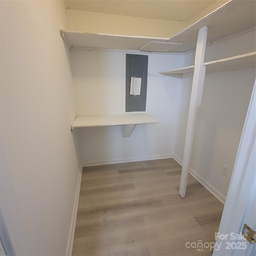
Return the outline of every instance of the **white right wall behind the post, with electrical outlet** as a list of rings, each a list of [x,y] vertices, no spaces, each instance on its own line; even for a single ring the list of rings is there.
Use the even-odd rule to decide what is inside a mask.
[[[206,48],[205,61],[255,51],[255,32]],[[194,62],[194,53],[184,64]],[[225,200],[236,152],[255,80],[255,68],[206,74],[202,104],[198,108],[190,168],[222,201]],[[175,155],[183,159],[192,76],[182,78],[180,120]],[[223,165],[230,167],[224,176]]]

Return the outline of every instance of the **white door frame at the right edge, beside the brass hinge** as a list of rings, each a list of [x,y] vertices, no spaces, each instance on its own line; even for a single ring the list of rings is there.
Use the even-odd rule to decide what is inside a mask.
[[[252,96],[246,115],[246,120],[244,122],[244,128],[242,131],[242,136],[240,144],[238,147],[238,153],[236,156],[236,161],[234,164],[234,170],[232,173],[232,178],[230,181],[230,186],[228,189],[228,194],[220,222],[219,234],[226,235],[227,239],[223,240],[220,236],[216,239],[216,244],[222,246],[219,250],[216,250],[217,246],[214,248],[213,256],[231,256],[236,255],[234,250],[226,249],[226,242],[230,239],[230,234],[234,232],[235,234],[240,234],[244,226],[244,222],[248,220],[246,216],[248,213],[248,208],[250,207],[250,200],[252,196],[255,195],[255,182],[256,182],[256,170],[255,170],[255,137],[256,137],[256,80],[254,83],[254,88],[252,91]],[[254,194],[253,194],[254,193]],[[252,213],[252,214],[255,214]],[[255,220],[255,217],[254,217]],[[249,223],[246,223],[250,225]],[[255,228],[255,222],[251,228]],[[222,236],[223,238],[223,236]],[[233,240],[234,241],[234,240]],[[246,240],[244,240],[246,241]],[[232,240],[231,240],[232,242]],[[256,244],[250,246],[247,241],[247,249],[239,250],[239,255],[249,256],[255,250]],[[250,252],[248,247],[250,246]],[[249,254],[248,254],[249,253]]]

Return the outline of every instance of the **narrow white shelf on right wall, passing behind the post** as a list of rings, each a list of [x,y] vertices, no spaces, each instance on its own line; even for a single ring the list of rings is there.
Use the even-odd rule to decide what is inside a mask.
[[[236,70],[242,68],[253,68],[256,66],[256,52],[250,52],[247,54],[241,54],[230,58],[205,62],[204,66],[206,66],[206,72],[208,73],[226,70]],[[159,73],[166,76],[182,76],[183,74],[193,72],[194,65]]]

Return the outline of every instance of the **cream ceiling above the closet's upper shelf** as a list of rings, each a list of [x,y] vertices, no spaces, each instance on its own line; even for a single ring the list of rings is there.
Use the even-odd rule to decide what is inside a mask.
[[[66,8],[188,22],[221,0],[65,0]]]

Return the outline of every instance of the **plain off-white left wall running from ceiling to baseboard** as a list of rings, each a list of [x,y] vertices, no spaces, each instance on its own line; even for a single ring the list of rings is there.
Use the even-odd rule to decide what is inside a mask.
[[[17,256],[63,256],[80,172],[65,7],[0,4],[0,207]]]

